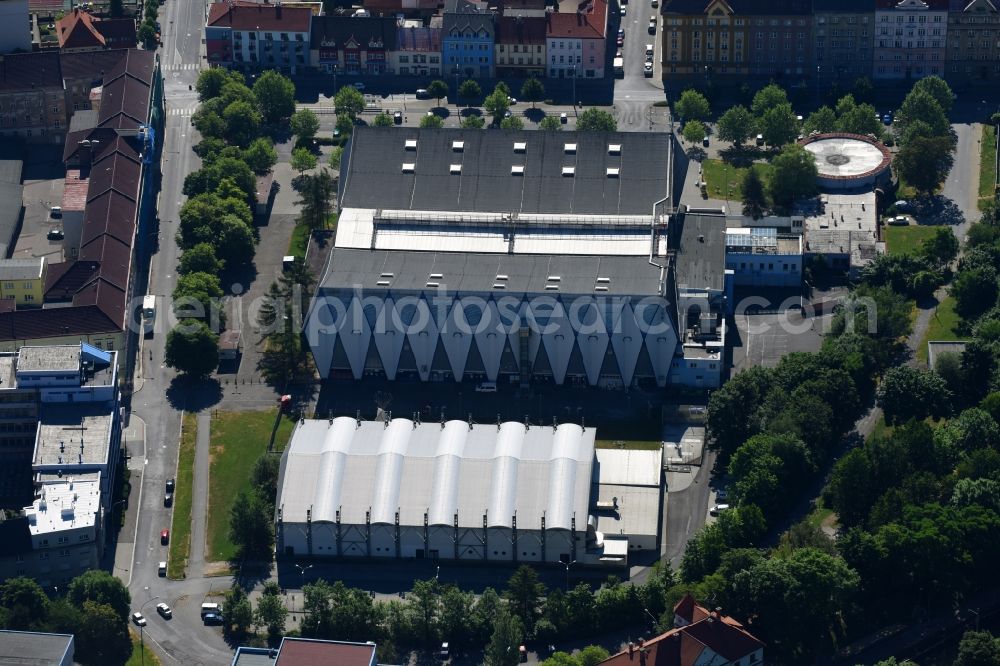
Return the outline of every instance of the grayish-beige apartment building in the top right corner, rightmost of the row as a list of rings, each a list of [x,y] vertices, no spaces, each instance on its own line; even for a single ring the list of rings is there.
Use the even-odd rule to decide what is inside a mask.
[[[1000,80],[998,10],[996,0],[951,0],[945,77],[953,86],[996,86]]]

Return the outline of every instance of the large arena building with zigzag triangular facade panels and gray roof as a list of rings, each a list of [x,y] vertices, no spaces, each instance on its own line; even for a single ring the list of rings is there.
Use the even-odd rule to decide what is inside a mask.
[[[670,217],[672,141],[358,128],[305,325],[320,374],[719,385],[725,222]]]

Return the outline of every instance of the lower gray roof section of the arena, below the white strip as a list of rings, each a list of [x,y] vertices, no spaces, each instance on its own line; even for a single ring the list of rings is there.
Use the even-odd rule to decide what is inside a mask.
[[[721,245],[720,248],[725,249]],[[724,258],[722,265],[725,265]],[[594,294],[597,286],[606,287],[596,292],[600,294],[655,296],[660,288],[660,270],[651,266],[646,257],[336,248],[328,267],[322,288],[334,291],[353,290],[355,286],[368,290],[437,291],[438,287],[428,287],[429,282],[449,292],[554,296],[560,293]],[[507,277],[498,280],[498,276]],[[550,277],[559,280],[550,280]],[[721,275],[719,280],[721,282]],[[500,283],[505,287],[494,289],[493,285]],[[558,290],[546,289],[556,284]]]

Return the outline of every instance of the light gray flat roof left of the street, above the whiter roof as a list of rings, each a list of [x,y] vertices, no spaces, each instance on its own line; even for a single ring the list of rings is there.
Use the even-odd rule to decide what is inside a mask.
[[[62,466],[64,473],[72,474],[73,465],[103,465],[110,435],[110,407],[47,403],[38,418],[32,466]]]

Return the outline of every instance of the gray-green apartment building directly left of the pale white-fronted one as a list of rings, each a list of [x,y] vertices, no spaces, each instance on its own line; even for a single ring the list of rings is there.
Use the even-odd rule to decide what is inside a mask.
[[[871,76],[875,0],[813,0],[813,44],[819,83],[851,84]]]

